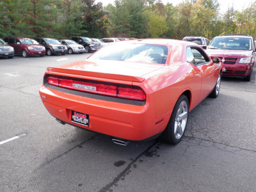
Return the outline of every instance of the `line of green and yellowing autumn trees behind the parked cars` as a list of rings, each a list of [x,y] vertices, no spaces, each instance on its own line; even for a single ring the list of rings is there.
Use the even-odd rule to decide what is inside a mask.
[[[256,3],[241,12],[232,5],[220,13],[218,0],[115,0],[102,7],[95,0],[0,0],[0,38],[47,36],[70,38],[176,38],[233,33],[256,36]]]

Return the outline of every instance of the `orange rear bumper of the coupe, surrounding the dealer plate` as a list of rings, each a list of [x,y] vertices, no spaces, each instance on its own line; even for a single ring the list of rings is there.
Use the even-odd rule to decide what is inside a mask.
[[[125,140],[140,141],[162,132],[168,117],[155,117],[154,108],[97,100],[51,90],[39,90],[49,113],[63,122]],[[71,122],[72,111],[89,115],[88,127]],[[163,120],[161,120],[163,119]]]

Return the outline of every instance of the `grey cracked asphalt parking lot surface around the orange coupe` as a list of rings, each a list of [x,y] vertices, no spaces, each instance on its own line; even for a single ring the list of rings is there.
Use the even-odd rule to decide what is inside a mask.
[[[223,78],[178,145],[124,147],[59,124],[40,100],[47,67],[89,55],[0,58],[0,191],[256,191],[256,68],[250,82]]]

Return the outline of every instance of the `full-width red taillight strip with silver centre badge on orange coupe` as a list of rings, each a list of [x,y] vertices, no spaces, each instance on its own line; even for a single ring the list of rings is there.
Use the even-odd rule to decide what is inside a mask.
[[[82,92],[96,93],[100,95],[108,95],[111,97],[119,97],[132,100],[145,100],[146,95],[143,90],[136,88],[127,88],[122,86],[114,86],[102,83],[91,83],[85,81],[76,81],[72,79],[63,79],[58,77],[47,77],[47,83],[54,86],[60,86],[72,90]]]

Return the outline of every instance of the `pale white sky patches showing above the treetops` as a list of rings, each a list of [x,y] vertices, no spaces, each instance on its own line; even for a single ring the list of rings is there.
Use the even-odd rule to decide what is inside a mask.
[[[109,3],[114,4],[115,0],[96,0],[97,2],[102,2],[103,6],[107,6]],[[234,9],[241,12],[245,8],[248,8],[249,4],[252,3],[255,0],[218,0],[220,3],[220,12],[226,12],[228,10],[228,6],[231,7],[234,3]],[[183,0],[162,0],[164,4],[166,3],[172,3],[173,5],[177,5],[179,3],[182,3]]]

